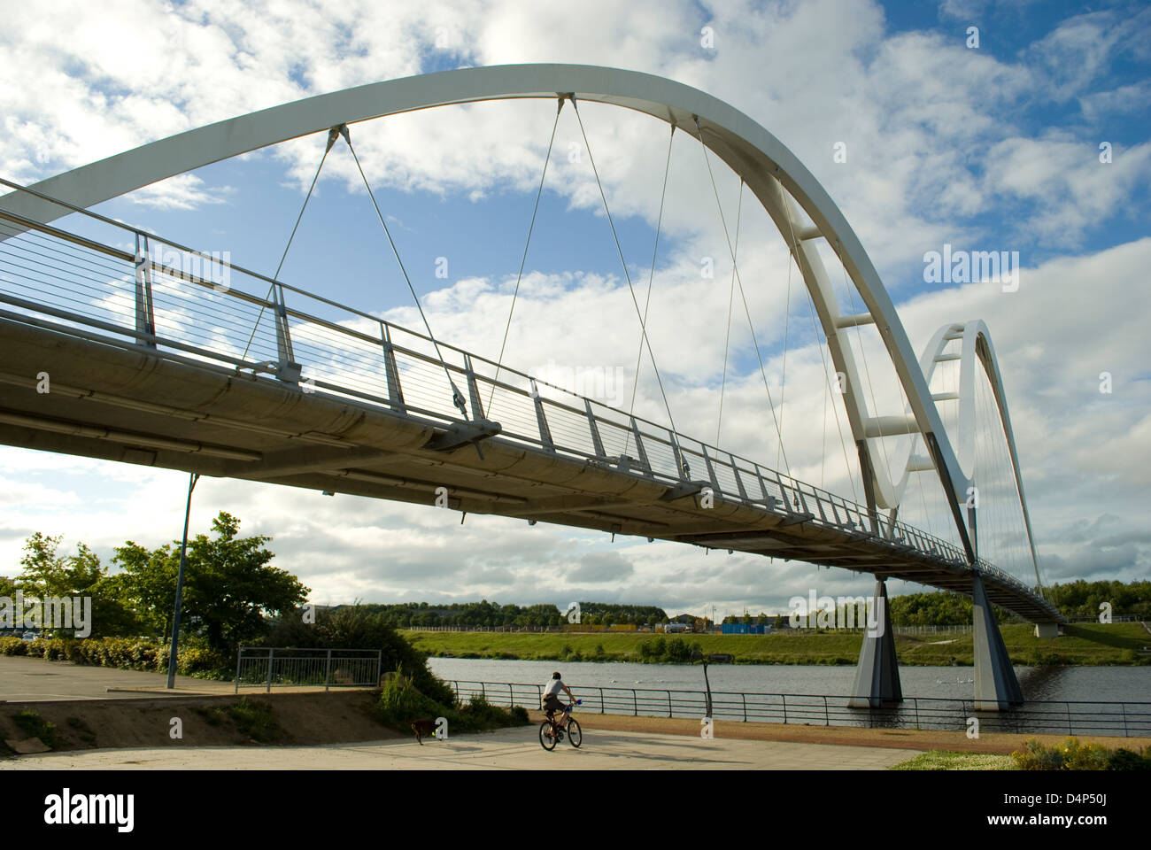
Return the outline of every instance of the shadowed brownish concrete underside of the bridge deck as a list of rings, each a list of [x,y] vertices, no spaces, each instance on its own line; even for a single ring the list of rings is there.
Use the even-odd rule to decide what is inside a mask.
[[[47,393],[37,392],[40,373],[48,375]],[[273,378],[0,319],[0,443],[428,506],[443,487],[447,506],[470,514],[971,592],[968,569],[868,532],[820,526],[778,502],[769,508],[716,494],[709,508],[700,496],[706,481],[671,485],[501,437],[482,440],[480,449],[452,446],[466,437],[443,423]],[[996,605],[1051,620],[993,576],[984,577],[984,587]]]

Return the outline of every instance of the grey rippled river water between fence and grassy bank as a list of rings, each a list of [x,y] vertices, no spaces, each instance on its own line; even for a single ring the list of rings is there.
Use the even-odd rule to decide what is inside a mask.
[[[580,688],[703,690],[699,665],[432,658],[428,667],[449,682],[523,684],[544,684],[552,670],[559,670],[576,696]],[[1015,674],[1029,701],[1151,701],[1151,667],[1016,667]],[[854,675],[854,666],[708,665],[712,692],[846,696]],[[899,668],[905,697],[971,699],[974,675],[971,667]]]

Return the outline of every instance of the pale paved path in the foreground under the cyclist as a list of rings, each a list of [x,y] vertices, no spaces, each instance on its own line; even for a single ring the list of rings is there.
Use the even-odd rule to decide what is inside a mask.
[[[918,750],[691,738],[611,730],[585,731],[579,750],[566,741],[547,752],[538,727],[462,735],[448,741],[389,741],[327,746],[213,746],[85,750],[0,761],[10,769],[818,769],[878,771]]]

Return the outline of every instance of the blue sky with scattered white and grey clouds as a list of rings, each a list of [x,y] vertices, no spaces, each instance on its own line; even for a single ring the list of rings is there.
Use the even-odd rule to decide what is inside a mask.
[[[0,176],[25,184],[257,109],[458,67],[597,64],[708,92],[773,134],[826,189],[916,354],[945,322],[988,322],[1044,580],[1149,574],[1151,9],[1142,3],[0,7]],[[822,334],[765,212],[708,153],[712,189],[704,150],[686,132],[669,154],[666,124],[649,116],[596,104],[580,116],[627,278],[640,299],[651,283],[648,335],[678,428],[862,501]],[[576,380],[571,389],[622,408],[635,380],[637,415],[666,420],[650,369],[635,377],[639,322],[570,106],[558,121],[554,100],[442,107],[353,124],[351,136],[436,336],[495,359],[506,328],[509,365]],[[318,134],[218,162],[96,211],[265,274],[283,259],[283,281],[418,327],[342,142],[284,256],[325,142]],[[737,222],[754,342],[731,287]],[[92,228],[75,215],[56,223]],[[1020,286],[930,280],[925,257],[945,245],[1017,252]],[[825,261],[844,308],[859,305],[833,253]],[[877,337],[860,332],[854,344],[872,403],[899,412]],[[981,400],[981,480],[1011,495],[985,386]],[[898,441],[881,448],[898,477]],[[909,492],[901,517],[953,537],[938,484],[916,480]],[[18,570],[35,531],[62,534],[69,552],[84,541],[106,562],[125,540],[168,542],[185,494],[181,472],[0,447],[0,574]],[[989,560],[1027,580],[1017,500],[998,501]],[[581,599],[669,613],[715,606],[722,616],[786,610],[810,589],[871,587],[847,571],[739,553],[491,516],[462,526],[433,507],[201,479],[192,531],[206,532],[220,510],[244,533],[270,536],[275,563],[320,604],[486,598],[564,609]],[[920,590],[895,582],[890,592]]]

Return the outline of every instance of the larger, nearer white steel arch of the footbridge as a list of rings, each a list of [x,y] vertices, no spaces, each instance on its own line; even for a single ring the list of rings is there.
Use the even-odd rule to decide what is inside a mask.
[[[744,113],[698,89],[650,74],[573,64],[494,66],[425,74],[320,94],[189,130],[59,174],[31,188],[78,207],[90,207],[211,162],[342,123],[435,106],[562,94],[635,109],[698,135],[745,181],[794,256],[836,370],[846,375],[844,404],[860,455],[868,507],[897,508],[899,503],[898,487],[890,471],[872,462],[868,440],[921,434],[944,491],[951,496],[952,516],[967,556],[974,561],[961,510],[968,479],[944,432],[907,333],[862,244],[823,187],[779,139]],[[59,205],[21,192],[0,197],[0,208],[40,222],[66,214]],[[866,313],[840,313],[818,253],[820,238],[836,251],[867,308]],[[902,412],[895,416],[868,412],[864,384],[841,332],[872,322],[908,399],[910,417]]]

